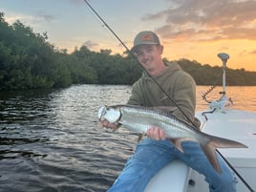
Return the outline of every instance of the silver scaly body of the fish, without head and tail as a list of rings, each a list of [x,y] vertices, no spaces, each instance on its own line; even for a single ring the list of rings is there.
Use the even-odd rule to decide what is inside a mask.
[[[121,106],[122,117],[119,122],[127,129],[139,133],[146,133],[152,126],[160,127],[164,130],[167,138],[193,138],[198,139],[198,135],[177,117],[173,117],[165,112],[151,110],[146,107]]]

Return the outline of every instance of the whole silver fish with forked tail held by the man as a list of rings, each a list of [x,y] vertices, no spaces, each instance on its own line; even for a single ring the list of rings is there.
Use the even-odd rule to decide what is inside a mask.
[[[158,107],[112,105],[101,106],[97,115],[101,126],[103,126],[104,120],[108,120],[117,128],[123,127],[139,134],[146,134],[147,129],[157,126],[164,130],[166,139],[169,139],[181,153],[183,153],[182,141],[196,141],[200,144],[207,160],[218,173],[222,173],[222,169],[216,156],[217,148],[247,148],[241,142],[203,133],[192,124],[167,111]]]

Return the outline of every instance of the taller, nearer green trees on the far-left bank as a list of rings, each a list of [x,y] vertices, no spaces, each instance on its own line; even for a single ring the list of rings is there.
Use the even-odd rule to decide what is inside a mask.
[[[0,89],[67,87],[96,83],[96,72],[67,53],[55,51],[43,35],[0,13]]]

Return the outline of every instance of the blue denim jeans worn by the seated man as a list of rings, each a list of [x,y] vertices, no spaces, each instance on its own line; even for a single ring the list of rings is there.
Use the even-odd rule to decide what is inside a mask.
[[[121,174],[108,192],[143,192],[148,181],[166,164],[182,160],[188,166],[205,176],[210,192],[236,191],[236,179],[224,160],[218,156],[222,173],[213,169],[203,154],[200,145],[194,141],[181,143],[181,153],[169,140],[142,140],[135,154],[127,161]],[[218,155],[218,154],[217,154]],[[171,178],[170,178],[171,180]]]

